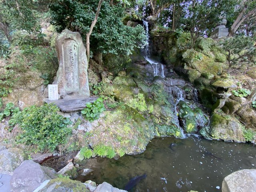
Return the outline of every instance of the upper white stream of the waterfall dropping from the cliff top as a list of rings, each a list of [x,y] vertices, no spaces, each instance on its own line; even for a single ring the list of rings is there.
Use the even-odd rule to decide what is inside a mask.
[[[147,45],[146,45],[146,48],[145,48],[144,58],[152,65],[153,70],[154,70],[154,76],[160,76],[161,75],[162,78],[165,78],[164,65],[162,63],[156,62],[156,61],[152,60],[152,58],[150,58],[148,22],[143,20],[143,25],[146,28],[146,37],[147,37]],[[160,68],[160,70],[159,70],[159,68]],[[161,73],[159,71],[161,71]]]

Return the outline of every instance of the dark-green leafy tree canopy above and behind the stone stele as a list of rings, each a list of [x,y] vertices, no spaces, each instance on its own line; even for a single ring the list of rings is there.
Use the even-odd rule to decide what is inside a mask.
[[[88,0],[60,0],[50,4],[52,24],[57,26],[58,32],[65,28],[79,31],[86,37],[90,25],[94,20],[98,1]],[[124,8],[121,4],[110,6],[103,1],[100,14],[90,36],[90,47],[94,52],[103,54],[131,54],[133,47],[141,48],[146,44],[144,28],[138,25],[134,28],[125,26],[121,22]]]

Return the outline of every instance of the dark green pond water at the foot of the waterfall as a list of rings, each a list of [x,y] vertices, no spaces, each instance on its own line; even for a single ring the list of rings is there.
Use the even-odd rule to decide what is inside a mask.
[[[173,150],[171,143],[176,144]],[[256,147],[195,136],[156,138],[142,154],[119,160],[94,158],[85,168],[94,171],[77,180],[92,180],[96,184],[106,181],[120,189],[131,178],[147,174],[131,190],[134,192],[221,192],[225,176],[240,169],[256,168]]]

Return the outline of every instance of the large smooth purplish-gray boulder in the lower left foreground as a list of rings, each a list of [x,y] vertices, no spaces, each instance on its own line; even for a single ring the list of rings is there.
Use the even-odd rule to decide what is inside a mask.
[[[32,192],[45,180],[57,178],[56,171],[49,167],[25,160],[18,168],[10,180],[12,192]]]

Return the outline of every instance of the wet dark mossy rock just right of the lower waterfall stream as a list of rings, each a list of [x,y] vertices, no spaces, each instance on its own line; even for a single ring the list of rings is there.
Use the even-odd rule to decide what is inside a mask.
[[[208,119],[202,110],[194,105],[188,105],[184,101],[180,101],[177,105],[179,120],[182,128],[187,133],[196,133],[202,127],[206,126]]]

